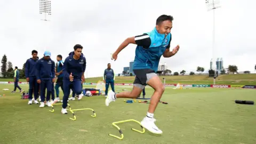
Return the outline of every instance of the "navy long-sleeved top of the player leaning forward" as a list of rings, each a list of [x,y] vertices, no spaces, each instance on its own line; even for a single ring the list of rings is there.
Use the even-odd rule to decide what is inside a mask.
[[[63,80],[69,81],[69,75],[70,73],[72,73],[74,77],[74,81],[77,81],[77,80],[81,81],[82,75],[86,68],[86,59],[83,53],[81,54],[78,60],[75,60],[73,56],[74,56],[74,52],[70,52],[69,56],[64,61],[64,65],[62,69]]]

